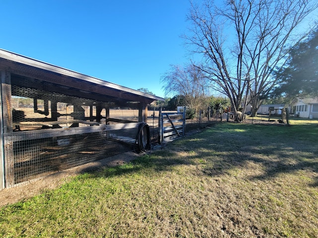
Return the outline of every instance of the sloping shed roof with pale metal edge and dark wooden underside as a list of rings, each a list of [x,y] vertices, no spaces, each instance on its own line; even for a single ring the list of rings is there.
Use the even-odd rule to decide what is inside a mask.
[[[0,49],[0,69],[9,71],[16,84],[19,84],[20,78],[27,77],[34,83],[45,81],[50,83],[52,88],[55,87],[55,90],[67,92],[73,96],[84,94],[85,98],[93,100],[115,102],[120,105],[131,102],[150,104],[156,100],[164,101],[163,98],[155,95],[2,49]]]

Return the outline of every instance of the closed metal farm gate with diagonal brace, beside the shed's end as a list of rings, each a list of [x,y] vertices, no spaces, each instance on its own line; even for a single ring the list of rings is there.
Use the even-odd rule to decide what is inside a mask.
[[[159,143],[164,143],[176,137],[184,135],[185,132],[185,112],[162,112],[159,110]]]

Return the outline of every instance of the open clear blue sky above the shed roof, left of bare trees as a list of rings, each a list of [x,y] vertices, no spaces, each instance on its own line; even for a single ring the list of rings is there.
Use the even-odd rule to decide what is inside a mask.
[[[159,97],[189,0],[0,0],[0,48]]]

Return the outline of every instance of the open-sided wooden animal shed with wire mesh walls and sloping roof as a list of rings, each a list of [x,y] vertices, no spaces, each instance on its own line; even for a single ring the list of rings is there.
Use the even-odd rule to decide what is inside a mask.
[[[120,151],[164,100],[5,50],[0,75],[0,189]]]

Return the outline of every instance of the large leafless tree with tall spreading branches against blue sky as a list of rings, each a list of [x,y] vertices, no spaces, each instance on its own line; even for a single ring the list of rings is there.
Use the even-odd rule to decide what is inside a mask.
[[[317,7],[314,0],[226,0],[222,7],[206,0],[202,8],[192,5],[191,34],[185,38],[203,55],[203,66],[197,67],[229,97],[234,112],[244,97],[255,114],[277,84],[273,69],[286,62],[288,46],[308,35],[310,30],[298,30]]]

